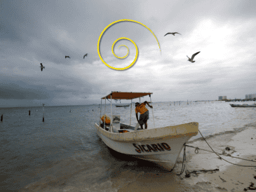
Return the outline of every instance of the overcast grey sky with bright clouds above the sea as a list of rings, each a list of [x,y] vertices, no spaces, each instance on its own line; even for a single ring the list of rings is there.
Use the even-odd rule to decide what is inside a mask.
[[[0,107],[95,104],[111,91],[154,92],[153,102],[256,92],[256,1],[138,2],[0,1]],[[139,50],[123,71],[97,53],[100,34],[116,20],[140,22],[159,41],[135,22],[109,27],[100,41],[107,64],[126,67],[135,59],[127,40],[114,53],[125,56],[119,46],[126,45],[128,57],[114,57],[116,39],[132,39]]]

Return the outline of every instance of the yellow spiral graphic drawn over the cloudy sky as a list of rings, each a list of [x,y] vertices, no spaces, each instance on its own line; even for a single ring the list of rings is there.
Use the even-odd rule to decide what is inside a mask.
[[[102,62],[103,62],[105,65],[107,65],[107,67],[109,67],[109,68],[111,68],[111,69],[115,69],[115,70],[124,70],[124,69],[128,69],[128,68],[132,67],[133,64],[137,61],[137,54],[138,54],[137,45],[136,45],[136,43],[133,42],[133,40],[128,39],[128,38],[126,38],[126,37],[121,37],[121,38],[119,38],[119,39],[116,39],[116,41],[114,41],[114,43],[113,43],[113,45],[112,45],[112,53],[114,54],[114,45],[115,45],[115,43],[116,43],[117,41],[119,41],[119,40],[121,40],[121,39],[127,39],[128,41],[132,42],[133,45],[134,45],[135,48],[136,48],[136,56],[135,56],[135,59],[133,60],[133,62],[132,62],[130,65],[128,65],[127,67],[123,67],[123,68],[112,67],[112,66],[110,66],[109,64],[107,64],[107,62],[105,62],[105,60],[103,60],[102,57],[101,57],[101,55],[100,55],[100,39],[102,38],[102,35],[105,33],[105,31],[107,30],[107,28],[109,28],[110,26],[114,25],[116,22],[123,22],[123,21],[137,22],[137,21],[135,21],[135,20],[117,20],[117,21],[115,21],[115,22],[112,22],[112,23],[110,23],[109,25],[107,25],[107,27],[105,27],[105,29],[102,31],[102,33],[100,34],[100,37],[99,37],[99,39],[98,39],[98,41],[97,41],[97,53],[98,53],[99,56],[100,56],[100,60],[102,60]],[[137,23],[140,24],[140,25],[142,25],[142,26],[144,26],[144,27],[146,27],[147,29],[149,29],[149,27],[147,27],[146,25],[143,25],[141,22],[137,22]],[[150,32],[154,35],[154,37],[156,38],[155,34],[154,34],[150,29],[149,29],[149,31],[150,31]],[[156,39],[156,41],[157,41],[157,43],[159,44],[159,41],[158,41],[157,39]],[[124,46],[124,45],[121,45],[121,46]],[[119,47],[120,47],[120,46],[119,46]],[[117,57],[117,58],[119,58],[119,59],[126,58],[127,55],[128,55],[128,53],[129,53],[129,48],[128,48],[127,46],[126,46],[126,48],[127,48],[127,54],[126,54],[126,56],[124,56],[124,57],[118,57],[118,56],[116,56],[116,54],[114,54],[114,56]],[[160,45],[159,45],[159,49],[160,49]],[[160,51],[161,51],[161,49],[160,49]]]

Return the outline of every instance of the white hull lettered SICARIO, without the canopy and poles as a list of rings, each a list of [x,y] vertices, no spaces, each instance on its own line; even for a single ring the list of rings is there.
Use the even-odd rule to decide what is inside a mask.
[[[97,135],[114,151],[149,160],[171,171],[175,167],[183,145],[198,132],[198,123],[191,125],[194,126],[190,132],[187,130],[189,123],[126,133],[108,132],[96,123],[95,128],[97,128]],[[177,130],[183,130],[183,132],[177,132]],[[159,135],[159,132],[162,134]]]

